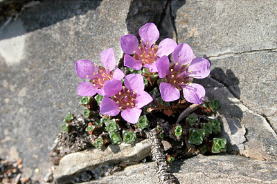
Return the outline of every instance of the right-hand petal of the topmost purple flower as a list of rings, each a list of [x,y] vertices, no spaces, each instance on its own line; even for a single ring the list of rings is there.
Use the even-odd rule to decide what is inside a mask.
[[[177,47],[177,43],[172,40],[172,39],[163,39],[159,43],[159,48],[157,51],[157,56],[162,57],[162,56],[168,56],[173,52],[173,50]]]

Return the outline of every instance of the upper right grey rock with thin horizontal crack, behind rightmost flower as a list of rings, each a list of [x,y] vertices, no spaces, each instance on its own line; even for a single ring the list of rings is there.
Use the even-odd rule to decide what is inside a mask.
[[[179,43],[210,59],[211,76],[265,116],[277,112],[276,8],[276,1],[186,1],[176,17]]]

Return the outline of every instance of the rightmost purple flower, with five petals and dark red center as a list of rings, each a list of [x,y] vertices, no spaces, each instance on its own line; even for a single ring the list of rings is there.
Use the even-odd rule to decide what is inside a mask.
[[[160,84],[161,98],[163,101],[175,101],[180,98],[179,90],[183,90],[186,101],[201,104],[205,89],[192,81],[193,78],[203,79],[208,76],[210,63],[202,57],[193,59],[193,50],[186,43],[178,45],[172,57],[174,63],[171,64],[168,57],[156,61],[159,77],[165,78],[165,82]]]

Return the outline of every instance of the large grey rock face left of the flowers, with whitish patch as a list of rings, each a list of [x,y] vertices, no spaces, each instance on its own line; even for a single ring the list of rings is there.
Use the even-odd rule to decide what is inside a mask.
[[[62,119],[82,112],[76,90],[84,80],[75,74],[75,61],[100,63],[107,48],[114,48],[116,61],[123,57],[119,40],[127,34],[129,4],[42,1],[0,35],[0,153],[20,156],[28,177],[48,172],[48,146]]]

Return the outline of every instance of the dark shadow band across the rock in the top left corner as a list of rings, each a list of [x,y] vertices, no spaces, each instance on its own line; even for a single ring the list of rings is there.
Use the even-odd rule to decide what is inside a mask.
[[[24,10],[20,16],[26,32],[32,32],[53,25],[64,19],[86,14],[89,10],[96,10],[101,1],[41,1],[41,3]],[[25,32],[24,32],[25,33]],[[23,33],[23,34],[24,34]],[[7,34],[6,38],[17,37],[21,32]]]

